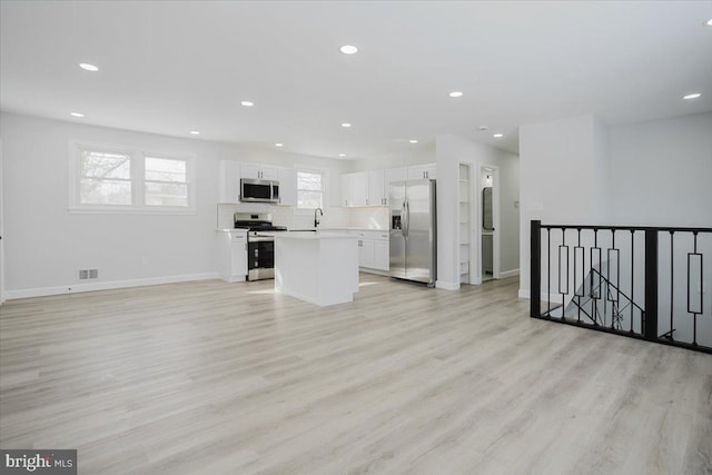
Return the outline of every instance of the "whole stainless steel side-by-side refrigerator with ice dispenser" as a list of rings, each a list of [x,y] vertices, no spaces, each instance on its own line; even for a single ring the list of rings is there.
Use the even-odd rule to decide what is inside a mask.
[[[390,277],[435,286],[435,180],[395,181],[389,189]]]

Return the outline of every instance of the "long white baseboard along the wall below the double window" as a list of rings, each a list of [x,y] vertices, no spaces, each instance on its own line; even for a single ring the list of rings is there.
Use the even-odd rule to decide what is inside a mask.
[[[127,287],[142,287],[149,285],[175,284],[192,280],[217,279],[218,273],[188,274],[182,276],[149,277],[145,279],[110,280],[91,284],[72,284],[58,287],[37,287],[20,290],[7,290],[6,298],[13,300],[17,298],[46,297],[50,295],[77,294],[82,291],[111,290]]]

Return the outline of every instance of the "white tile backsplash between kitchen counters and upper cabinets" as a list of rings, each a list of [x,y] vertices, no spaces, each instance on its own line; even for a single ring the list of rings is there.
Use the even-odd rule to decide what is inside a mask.
[[[235,226],[233,215],[236,212],[270,212],[275,226],[288,229],[309,229],[314,227],[314,212],[291,206],[273,206],[257,202],[239,205],[217,205],[217,229],[230,229]],[[368,228],[387,229],[389,210],[385,207],[370,208],[324,208],[319,217],[319,226],[324,228]]]

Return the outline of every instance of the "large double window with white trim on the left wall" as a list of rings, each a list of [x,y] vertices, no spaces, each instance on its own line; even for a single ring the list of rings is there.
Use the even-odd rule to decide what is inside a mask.
[[[75,144],[70,210],[194,212],[194,160],[111,146]]]

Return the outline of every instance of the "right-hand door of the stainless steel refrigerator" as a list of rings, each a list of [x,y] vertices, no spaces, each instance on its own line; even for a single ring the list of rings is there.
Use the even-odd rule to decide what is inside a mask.
[[[431,283],[433,269],[433,227],[431,180],[408,181],[406,188],[407,267],[406,278]]]

